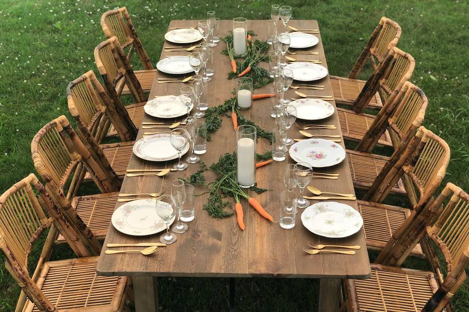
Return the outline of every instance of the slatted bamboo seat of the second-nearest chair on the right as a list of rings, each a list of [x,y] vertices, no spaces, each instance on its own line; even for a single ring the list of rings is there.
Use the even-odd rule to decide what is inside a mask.
[[[358,210],[363,218],[363,234],[369,249],[383,249],[391,235],[410,215],[408,208],[357,200]],[[417,244],[411,254],[423,256],[422,246]]]

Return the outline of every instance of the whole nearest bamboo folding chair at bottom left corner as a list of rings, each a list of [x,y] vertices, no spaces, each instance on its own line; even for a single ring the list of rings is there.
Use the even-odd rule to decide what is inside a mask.
[[[33,174],[0,196],[0,249],[6,259],[6,269],[22,289],[15,312],[117,312],[127,309],[124,300],[128,277],[97,276],[98,256],[93,255],[99,254],[101,246],[96,237],[80,218],[65,219]],[[69,220],[75,226],[67,223]],[[47,229],[49,232],[36,269],[30,275],[29,256]],[[58,231],[80,258],[48,261]],[[84,239],[83,234],[91,236]]]

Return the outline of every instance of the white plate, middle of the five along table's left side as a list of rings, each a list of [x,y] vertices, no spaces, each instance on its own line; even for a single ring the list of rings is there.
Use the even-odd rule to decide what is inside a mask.
[[[191,104],[191,110],[194,105]],[[186,105],[179,96],[164,96],[150,99],[143,107],[145,113],[158,118],[174,118],[187,115]]]

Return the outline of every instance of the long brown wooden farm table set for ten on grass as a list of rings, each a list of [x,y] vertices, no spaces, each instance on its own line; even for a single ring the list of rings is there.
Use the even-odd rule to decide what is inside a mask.
[[[281,24],[281,23],[279,23]],[[290,25],[298,28],[317,29],[316,20],[291,20]],[[172,20],[170,27],[196,26],[196,20]],[[220,20],[218,29],[220,36],[225,36],[233,27],[231,20]],[[279,26],[283,27],[283,26]],[[248,29],[254,30],[259,39],[266,39],[265,20],[251,20]],[[322,65],[327,67],[324,50],[320,35],[317,34],[319,43],[311,48],[319,55],[297,55],[295,57],[304,59],[319,59]],[[165,42],[165,46],[174,44]],[[234,87],[233,80],[227,80],[230,71],[229,58],[220,52],[226,45],[220,41],[214,47],[215,75],[209,82],[209,105],[215,106],[223,103],[231,96]],[[148,48],[148,47],[147,47]],[[181,55],[187,52],[181,52]],[[175,52],[162,53],[165,55],[176,55]],[[263,63],[262,66],[268,66]],[[169,77],[159,73],[158,77]],[[324,90],[306,90],[307,94],[332,95],[329,78],[315,81],[323,84]],[[149,98],[155,96],[178,94],[182,83],[153,83]],[[256,94],[272,93],[269,88],[272,84],[262,89],[255,90]],[[305,91],[303,91],[305,92]],[[288,98],[295,97],[294,90],[288,91]],[[298,96],[296,96],[298,98]],[[333,105],[334,102],[331,102]],[[260,127],[271,131],[275,127],[274,118],[270,117],[270,99],[260,99],[254,102],[251,110],[243,111],[246,117],[251,119]],[[212,135],[208,142],[207,153],[202,155],[202,160],[207,164],[218,160],[220,155],[235,150],[236,136],[233,132],[231,119],[222,117],[221,128]],[[145,115],[143,121],[161,121],[157,118]],[[167,120],[166,120],[167,121]],[[297,121],[302,122],[302,121]],[[341,128],[337,113],[333,116],[317,121],[316,123],[335,124],[336,130],[314,130],[315,134],[341,135]],[[140,128],[138,139],[143,136],[145,130]],[[290,137],[301,137],[298,129],[292,127]],[[340,143],[343,146],[343,143]],[[266,139],[260,138],[257,142],[257,152],[264,153],[270,149]],[[186,155],[187,156],[187,155]],[[186,157],[184,156],[184,157]],[[283,185],[283,171],[287,162],[293,162],[287,156],[287,161],[269,164],[257,170],[257,183],[259,187],[272,189],[260,195],[256,199],[263,207],[278,221],[279,200],[278,194],[285,189]],[[129,169],[151,169],[172,167],[175,161],[167,163],[149,162],[132,155]],[[171,172],[163,178],[157,176],[125,177],[121,191],[123,193],[153,193],[165,191],[171,193],[171,181],[181,176],[189,176],[198,170],[198,164],[189,166],[187,171]],[[347,161],[334,167],[325,168],[323,172],[339,173],[339,179],[313,178],[312,185],[323,191],[338,193],[354,193],[352,178]],[[205,173],[208,181],[213,181],[215,176],[211,172]],[[202,187],[196,187],[196,193],[205,191]],[[305,193],[308,193],[305,191]],[[230,217],[217,220],[202,210],[207,195],[196,197],[195,220],[189,222],[189,231],[177,234],[177,242],[160,248],[155,254],[144,256],[141,254],[111,254],[107,255],[103,248],[97,271],[100,275],[129,275],[133,277],[134,294],[137,311],[158,311],[157,291],[155,276],[192,276],[192,277],[307,277],[320,278],[320,311],[336,311],[339,298],[339,287],[341,278],[366,278],[370,274],[370,264],[366,252],[365,239],[362,231],[347,238],[328,239],[312,234],[302,226],[300,214],[297,215],[295,228],[285,230],[280,228],[276,222],[268,222],[261,217],[248,203],[243,200],[244,222],[246,230],[244,233],[239,229],[236,218]],[[343,201],[356,208],[354,201]],[[117,207],[121,203],[117,204]],[[232,209],[228,207],[227,209]],[[106,243],[139,243],[157,242],[160,234],[151,236],[135,237],[121,234],[112,225],[106,236]],[[344,254],[317,254],[310,255],[301,251],[301,246],[307,246],[307,242],[320,244],[360,245],[362,248],[355,255]],[[156,304],[156,307],[158,305]],[[156,310],[155,310],[156,309]]]

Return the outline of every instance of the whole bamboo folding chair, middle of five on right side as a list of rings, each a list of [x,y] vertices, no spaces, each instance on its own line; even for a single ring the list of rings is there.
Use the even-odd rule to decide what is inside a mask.
[[[362,137],[354,151],[346,150],[353,184],[358,189],[368,189],[382,171],[389,157],[371,154],[373,147],[384,135],[392,142],[394,150],[406,145],[422,125],[428,100],[424,92],[406,81],[399,94],[388,101]],[[386,130],[388,129],[388,130]],[[406,179],[398,180],[392,193],[406,194]],[[412,202],[415,204],[415,202]]]

